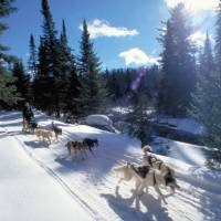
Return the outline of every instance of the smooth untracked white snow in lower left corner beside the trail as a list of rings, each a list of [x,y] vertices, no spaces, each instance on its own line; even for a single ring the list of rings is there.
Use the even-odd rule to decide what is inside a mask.
[[[14,138],[0,136],[0,220],[94,220]]]

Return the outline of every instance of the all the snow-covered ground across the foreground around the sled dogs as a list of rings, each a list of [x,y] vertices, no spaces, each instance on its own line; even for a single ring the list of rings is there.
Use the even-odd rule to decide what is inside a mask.
[[[51,126],[43,114],[36,119]],[[133,182],[116,188],[118,177],[112,168],[140,161],[138,140],[54,120],[63,136],[46,145],[22,134],[21,122],[20,113],[0,113],[0,220],[221,220],[221,175],[204,167],[203,147],[158,138],[170,146],[169,156],[158,157],[175,168],[181,186],[173,196],[162,189],[165,206],[155,190],[137,199]],[[69,157],[66,141],[84,137],[98,139],[95,156]]]

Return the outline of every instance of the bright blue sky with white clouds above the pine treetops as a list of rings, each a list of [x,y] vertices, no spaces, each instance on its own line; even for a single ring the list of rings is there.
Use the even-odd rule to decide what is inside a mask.
[[[86,19],[104,69],[155,63],[161,51],[158,29],[178,1],[185,1],[198,28],[192,40],[200,45],[206,30],[213,39],[213,8],[218,0],[49,0],[59,31],[62,19],[65,20],[69,43],[75,54],[78,53],[81,23]],[[11,48],[9,53],[25,63],[30,34],[38,44],[42,33],[41,0],[17,0],[15,7],[18,12],[4,19],[10,29],[1,35],[1,42]]]

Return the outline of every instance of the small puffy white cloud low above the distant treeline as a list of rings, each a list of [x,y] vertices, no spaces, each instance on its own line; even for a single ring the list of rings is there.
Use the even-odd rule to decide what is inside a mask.
[[[138,65],[145,65],[145,64],[158,64],[159,57],[154,57],[147,55],[141,50],[134,48],[128,51],[122,52],[118,54],[119,57],[123,57],[125,60],[126,65],[129,64],[138,64]]]

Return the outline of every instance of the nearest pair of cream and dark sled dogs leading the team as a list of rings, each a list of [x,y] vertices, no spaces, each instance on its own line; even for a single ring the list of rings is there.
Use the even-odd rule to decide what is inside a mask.
[[[122,181],[130,181],[134,179],[136,183],[135,193],[137,197],[144,193],[144,189],[148,192],[148,187],[154,187],[159,198],[167,204],[159,187],[169,187],[172,193],[175,193],[176,189],[180,189],[176,180],[175,170],[151,154],[151,148],[149,146],[144,146],[143,151],[144,156],[140,165],[126,162],[123,166],[113,168],[114,172],[122,175],[118,185]]]

